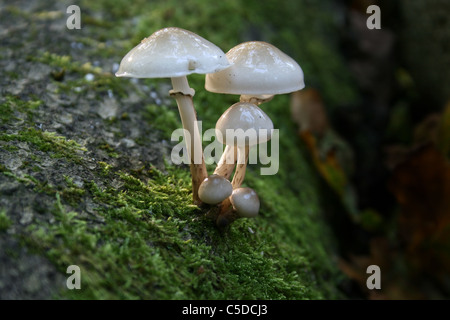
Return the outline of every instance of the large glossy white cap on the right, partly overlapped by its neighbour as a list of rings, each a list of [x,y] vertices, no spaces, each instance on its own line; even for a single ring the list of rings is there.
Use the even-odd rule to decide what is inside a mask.
[[[205,88],[216,93],[274,95],[305,87],[294,59],[263,41],[241,43],[227,52],[232,66],[206,76]]]

